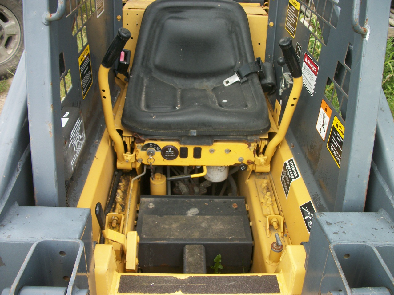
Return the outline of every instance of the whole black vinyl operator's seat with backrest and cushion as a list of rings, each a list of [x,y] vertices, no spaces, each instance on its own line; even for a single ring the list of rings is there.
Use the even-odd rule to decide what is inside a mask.
[[[141,23],[122,124],[148,136],[264,133],[270,122],[258,74],[223,85],[253,61],[237,2],[156,0]]]

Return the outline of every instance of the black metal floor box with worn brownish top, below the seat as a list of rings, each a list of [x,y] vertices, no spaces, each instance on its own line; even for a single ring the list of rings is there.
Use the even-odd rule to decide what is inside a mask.
[[[207,273],[221,254],[222,273],[246,273],[252,235],[244,197],[141,195],[137,232],[144,273],[182,273],[183,247],[204,245]]]

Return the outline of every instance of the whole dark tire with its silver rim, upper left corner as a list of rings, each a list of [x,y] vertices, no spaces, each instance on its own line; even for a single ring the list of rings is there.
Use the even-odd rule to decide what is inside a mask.
[[[21,0],[0,0],[0,80],[12,76],[23,52]]]

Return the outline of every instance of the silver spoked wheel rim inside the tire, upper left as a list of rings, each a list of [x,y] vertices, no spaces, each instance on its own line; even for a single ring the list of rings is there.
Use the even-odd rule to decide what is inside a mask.
[[[0,5],[0,64],[9,61],[17,53],[21,35],[17,17],[7,7]]]

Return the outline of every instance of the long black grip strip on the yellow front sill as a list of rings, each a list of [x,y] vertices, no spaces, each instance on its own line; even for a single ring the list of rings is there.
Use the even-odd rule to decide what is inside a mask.
[[[123,275],[118,293],[171,294],[273,294],[280,293],[275,275],[172,276]]]

